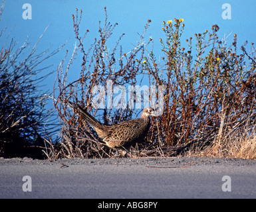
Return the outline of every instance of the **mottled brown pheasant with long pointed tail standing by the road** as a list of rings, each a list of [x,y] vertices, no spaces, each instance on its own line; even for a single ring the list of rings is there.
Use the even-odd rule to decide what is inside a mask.
[[[72,103],[69,102],[72,105]],[[116,125],[104,125],[87,113],[80,105],[75,104],[82,118],[96,131],[98,137],[106,143],[106,146],[114,148],[116,155],[118,149],[130,148],[135,142],[140,142],[146,136],[150,127],[150,116],[156,116],[152,107],[142,111],[139,119],[123,121]],[[126,150],[127,151],[127,150]]]

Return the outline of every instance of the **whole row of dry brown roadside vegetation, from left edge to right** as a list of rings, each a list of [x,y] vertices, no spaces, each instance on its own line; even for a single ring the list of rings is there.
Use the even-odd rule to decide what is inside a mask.
[[[89,30],[80,35],[82,11],[76,9],[76,14],[72,15],[77,46],[69,60],[66,51],[61,61],[52,96],[61,122],[59,142],[53,141],[51,136],[42,136],[48,115],[45,95],[37,92],[35,83],[44,77],[33,78],[37,74],[37,64],[56,51],[40,60],[47,51],[35,55],[33,48],[27,59],[17,64],[26,46],[17,48],[14,54],[11,52],[15,43],[11,42],[9,48],[2,47],[0,154],[15,145],[18,149],[43,142],[43,152],[51,159],[111,157],[113,151],[76,115],[76,109],[68,107],[67,102],[78,103],[98,121],[112,125],[138,117],[142,109],[138,108],[136,98],[148,95],[147,101],[155,98],[162,115],[152,119],[145,142],[132,146],[131,156],[187,154],[256,158],[254,44],[248,47],[245,42],[239,48],[236,34],[232,41],[220,39],[217,36],[219,26],[212,25],[211,31],[195,34],[184,45],[181,42],[185,28],[183,19],[164,21],[165,38],[147,40],[151,23],[148,20],[134,48],[123,52],[120,43],[124,34],[114,46],[110,45],[109,39],[118,24],[108,23],[106,8],[105,14],[98,37],[90,46],[84,40]],[[162,45],[160,57],[154,52],[154,42]],[[68,76],[75,71],[72,70],[74,58],[76,62],[80,58],[80,76],[69,81]],[[140,94],[132,90],[128,101],[126,96],[120,95],[122,89],[126,94],[129,87],[135,89],[143,85],[148,85],[149,90]],[[108,99],[117,92],[116,88],[121,92]],[[143,104],[146,105],[145,99]],[[48,126],[50,131],[51,126]]]

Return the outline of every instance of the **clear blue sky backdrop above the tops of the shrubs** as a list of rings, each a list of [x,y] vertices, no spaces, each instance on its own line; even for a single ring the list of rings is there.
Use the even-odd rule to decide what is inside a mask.
[[[22,17],[24,9],[23,4],[29,3],[32,7],[32,19],[25,20]],[[223,19],[222,9],[223,3],[231,5],[231,19]],[[104,22],[104,7],[108,11],[108,21],[112,24],[118,23],[114,30],[113,36],[118,38],[122,33],[125,33],[122,38],[121,45],[125,50],[131,50],[136,41],[139,40],[138,34],[144,31],[144,25],[147,20],[151,19],[148,36],[152,36],[155,40],[156,56],[161,55],[159,38],[164,37],[162,32],[162,22],[174,20],[174,18],[184,19],[185,30],[182,40],[193,37],[193,34],[204,32],[206,29],[211,30],[211,25],[217,24],[220,28],[218,35],[223,38],[226,34],[231,33],[229,40],[233,40],[233,34],[237,34],[238,45],[241,46],[245,40],[249,43],[256,43],[256,1],[247,0],[227,0],[227,1],[209,1],[209,0],[140,0],[140,1],[124,1],[124,0],[7,0],[0,21],[0,27],[3,29],[7,26],[7,31],[0,39],[2,46],[5,42],[5,37],[11,31],[11,38],[15,38],[18,46],[21,46],[27,36],[31,47],[35,45],[39,36],[45,28],[49,26],[47,32],[39,42],[37,51],[43,52],[51,47],[55,50],[67,40],[66,46],[57,55],[47,60],[47,64],[41,66],[53,65],[49,71],[57,70],[57,65],[64,58],[66,49],[70,54],[74,48],[74,31],[72,28],[72,14],[75,14],[75,9],[82,9],[82,24],[81,32],[90,30],[85,44],[90,46],[94,38],[98,36],[98,21]],[[113,42],[113,47],[116,40]],[[195,39],[194,43],[195,44]],[[108,44],[111,46],[111,44]],[[184,42],[186,48],[186,42]],[[81,62],[74,60],[70,70],[80,70]],[[46,70],[47,71],[47,70]],[[75,72],[74,72],[75,73]],[[45,89],[52,90],[55,80],[55,74],[44,82]],[[76,74],[73,75],[76,79]],[[77,75],[78,77],[78,75]]]

